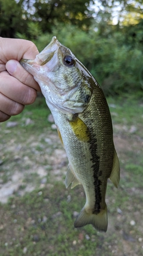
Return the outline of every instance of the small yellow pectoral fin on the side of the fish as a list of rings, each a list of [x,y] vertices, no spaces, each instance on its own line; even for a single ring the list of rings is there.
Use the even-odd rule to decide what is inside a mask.
[[[73,120],[68,120],[76,137],[83,142],[89,142],[90,133],[86,124],[78,118],[78,116],[74,117]]]

